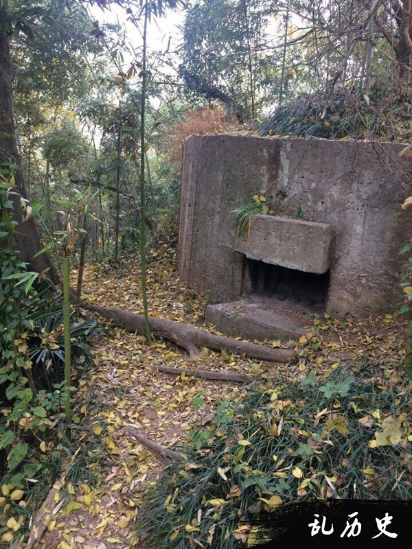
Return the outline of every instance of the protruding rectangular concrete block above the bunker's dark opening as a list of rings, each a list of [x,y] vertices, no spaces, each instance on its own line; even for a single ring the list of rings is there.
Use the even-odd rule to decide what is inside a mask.
[[[276,215],[253,215],[248,235],[239,237],[233,218],[227,227],[228,246],[250,259],[288,269],[323,274],[330,266],[330,225]]]

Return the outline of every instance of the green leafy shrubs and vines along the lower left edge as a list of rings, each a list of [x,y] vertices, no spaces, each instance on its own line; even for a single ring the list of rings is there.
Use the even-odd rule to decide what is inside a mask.
[[[62,447],[50,442],[60,423],[63,334],[60,294],[16,254],[10,168],[0,169],[0,542],[20,536],[32,502],[43,498],[59,473]],[[21,200],[24,215],[26,202]],[[71,325],[78,362],[91,358],[86,339],[95,320]],[[55,434],[55,433],[54,433]],[[56,436],[55,436],[56,439]],[[58,439],[58,437],[57,437]]]

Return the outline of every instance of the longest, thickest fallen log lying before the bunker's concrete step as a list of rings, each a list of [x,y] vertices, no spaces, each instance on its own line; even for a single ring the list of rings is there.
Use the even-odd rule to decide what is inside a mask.
[[[108,320],[114,320],[115,323],[122,325],[126,330],[144,333],[144,315],[135,314],[119,307],[100,307],[93,303],[82,301],[81,306],[84,309],[94,311]],[[186,326],[174,320],[167,318],[157,318],[149,316],[149,325],[152,334],[159,338],[167,339],[174,342],[182,349],[185,349],[190,357],[194,357],[198,353],[198,347],[207,347],[214,351],[229,351],[230,353],[239,353],[255,358],[257,360],[268,360],[269,362],[289,362],[294,351],[290,349],[274,349],[267,345],[258,345],[246,341],[239,341],[226,336],[216,336],[209,334],[208,331]]]

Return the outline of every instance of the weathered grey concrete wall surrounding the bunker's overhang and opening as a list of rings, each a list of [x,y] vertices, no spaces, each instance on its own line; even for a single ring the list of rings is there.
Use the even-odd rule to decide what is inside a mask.
[[[265,189],[276,212],[332,226],[327,307],[352,314],[396,309],[398,250],[412,237],[411,161],[394,143],[206,135],[183,147],[179,272],[215,301],[247,290],[244,256],[227,245],[231,211]],[[398,222],[394,222],[399,214]]]

